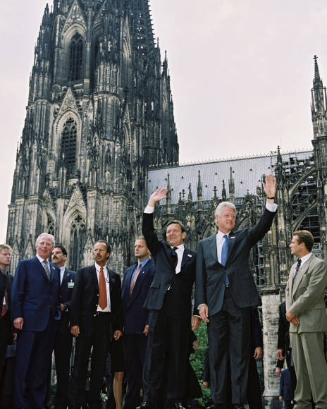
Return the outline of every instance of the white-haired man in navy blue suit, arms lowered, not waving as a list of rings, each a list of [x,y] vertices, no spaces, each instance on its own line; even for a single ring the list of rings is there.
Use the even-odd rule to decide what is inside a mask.
[[[35,257],[18,263],[11,292],[11,315],[18,330],[15,408],[44,407],[60,318],[59,269],[48,260],[54,236],[40,234],[35,248]]]

